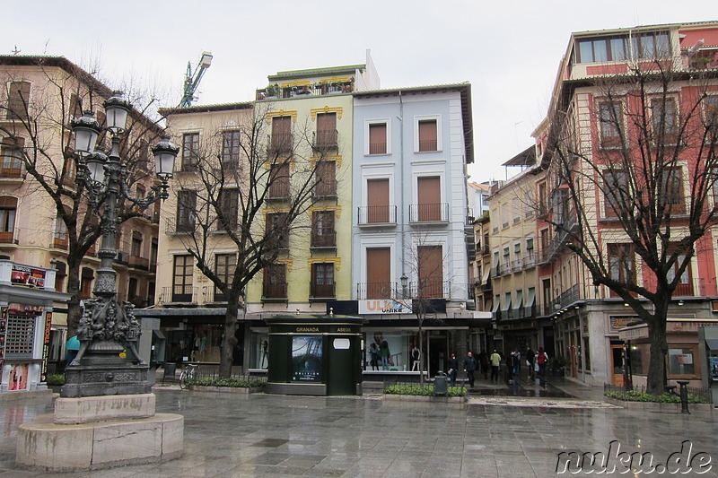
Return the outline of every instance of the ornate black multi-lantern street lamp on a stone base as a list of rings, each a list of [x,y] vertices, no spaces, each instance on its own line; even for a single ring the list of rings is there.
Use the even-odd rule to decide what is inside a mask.
[[[98,124],[92,112],[85,112],[72,122],[74,152],[78,156],[77,180],[86,188],[91,207],[102,210],[102,245],[97,254],[101,258],[100,270],[92,291],[96,297],[84,300],[77,330],[80,350],[66,369],[66,385],[60,391],[63,397],[144,394],[151,390],[147,379],[149,366],[136,348],[140,326],[132,312],[135,306],[129,302],[119,304],[117,300],[116,274],[112,268],[117,256],[117,205],[122,195],[144,211],[169,197],[168,181],[180,148],[170,143],[169,137],[163,137],[152,149],[162,184],[153,186],[144,198],[131,196],[127,188],[129,173],[119,156],[119,143],[132,107],[118,91],[104,102],[104,107],[105,126]],[[102,129],[112,135],[109,155],[95,151]],[[119,356],[126,350],[134,356],[135,363]]]

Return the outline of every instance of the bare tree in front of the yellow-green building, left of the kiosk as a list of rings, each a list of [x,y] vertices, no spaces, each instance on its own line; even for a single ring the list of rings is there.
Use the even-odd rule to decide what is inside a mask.
[[[218,126],[190,146],[187,153],[193,161],[183,168],[191,174],[178,175],[173,189],[178,231],[186,232],[179,236],[182,245],[227,303],[221,377],[232,371],[247,285],[288,254],[289,237],[311,226],[315,189],[322,181],[334,180],[320,176],[321,156],[306,154],[311,151],[308,127],[273,130],[270,135],[267,113],[255,107],[247,119],[232,118],[231,129]],[[220,249],[221,265],[216,255]]]

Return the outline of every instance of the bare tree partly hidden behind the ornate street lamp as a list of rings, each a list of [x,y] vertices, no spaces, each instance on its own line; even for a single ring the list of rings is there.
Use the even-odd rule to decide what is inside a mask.
[[[15,70],[13,65],[31,66],[31,72],[27,68]],[[71,295],[67,326],[69,334],[74,335],[81,315],[80,266],[101,236],[104,197],[91,205],[86,187],[77,180],[84,169],[73,152],[71,120],[82,116],[83,110],[97,109],[112,91],[61,57],[0,56],[0,68],[6,99],[0,103],[0,117],[6,119],[0,122],[7,151],[4,161],[17,162],[18,168],[30,176],[31,181],[25,181],[24,194],[46,194],[62,224],[67,239],[67,293]],[[162,132],[144,116],[155,100],[136,96],[133,102],[144,106],[132,111],[121,143],[130,184],[150,181],[153,161],[149,160],[149,145]],[[98,119],[103,122],[103,118]],[[109,138],[101,135],[98,146],[108,142]],[[119,202],[118,222],[142,215],[131,206]]]

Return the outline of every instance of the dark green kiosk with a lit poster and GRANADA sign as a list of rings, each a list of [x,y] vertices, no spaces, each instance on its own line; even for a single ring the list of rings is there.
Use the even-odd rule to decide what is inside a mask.
[[[297,314],[266,322],[266,393],[362,395],[362,317]]]

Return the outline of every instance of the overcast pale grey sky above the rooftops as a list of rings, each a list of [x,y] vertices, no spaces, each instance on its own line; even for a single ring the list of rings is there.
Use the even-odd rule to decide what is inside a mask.
[[[481,182],[505,178],[501,163],[531,144],[572,31],[703,22],[717,12],[714,0],[30,0],[5,5],[12,20],[0,50],[99,61],[110,86],[141,78],[169,91],[163,106],[174,106],[202,50],[214,60],[195,104],[252,100],[267,74],[360,64],[370,48],[382,88],[472,84],[469,174]]]

